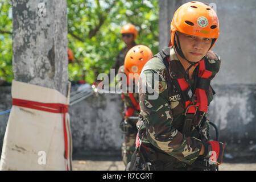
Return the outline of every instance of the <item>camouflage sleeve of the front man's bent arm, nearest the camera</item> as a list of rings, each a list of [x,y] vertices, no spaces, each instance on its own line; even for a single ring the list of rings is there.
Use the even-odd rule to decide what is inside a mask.
[[[158,79],[154,81],[154,74]],[[147,77],[151,77],[147,80]],[[150,100],[151,94],[142,89],[143,86],[154,88],[158,93],[158,98]],[[158,86],[154,86],[158,85]],[[152,70],[146,70],[141,74],[139,81],[139,100],[141,106],[141,115],[146,124],[147,139],[155,147],[174,156],[181,162],[192,164],[199,156],[202,143],[201,140],[194,137],[185,137],[174,126],[172,126],[172,113],[168,102],[167,84],[164,74]]]

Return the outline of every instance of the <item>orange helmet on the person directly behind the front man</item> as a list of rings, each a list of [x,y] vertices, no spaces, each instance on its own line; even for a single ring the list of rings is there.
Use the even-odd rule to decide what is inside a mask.
[[[129,73],[141,74],[144,64],[152,57],[152,51],[147,46],[138,45],[131,48],[125,56],[124,69],[127,76]]]

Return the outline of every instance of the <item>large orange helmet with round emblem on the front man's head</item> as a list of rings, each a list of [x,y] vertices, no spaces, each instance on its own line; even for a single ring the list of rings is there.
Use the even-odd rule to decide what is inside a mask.
[[[213,38],[212,48],[219,35],[218,16],[210,6],[202,2],[185,3],[175,11],[174,18],[172,18],[169,46],[174,46],[176,31],[193,36]]]

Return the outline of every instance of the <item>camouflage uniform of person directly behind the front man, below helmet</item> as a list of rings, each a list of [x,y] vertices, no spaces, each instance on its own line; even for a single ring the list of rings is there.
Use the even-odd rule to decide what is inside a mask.
[[[124,73],[123,71],[123,66],[121,66],[118,70],[118,73]],[[135,101],[139,103],[139,94],[138,93],[133,93],[133,97],[135,98]],[[131,99],[129,97],[128,93],[122,93],[122,101],[124,105],[124,110],[125,112],[123,113],[123,118],[125,117],[138,117],[139,115],[139,110],[134,108],[133,102],[131,102]],[[130,110],[131,112],[127,114],[127,110]],[[127,163],[131,161],[131,155],[135,151],[135,138],[137,134],[137,123],[138,119],[127,119],[127,123],[130,124],[130,129],[128,133],[125,133],[123,143],[122,143],[122,158],[123,158],[123,163],[125,166]],[[124,122],[124,121],[122,121]]]

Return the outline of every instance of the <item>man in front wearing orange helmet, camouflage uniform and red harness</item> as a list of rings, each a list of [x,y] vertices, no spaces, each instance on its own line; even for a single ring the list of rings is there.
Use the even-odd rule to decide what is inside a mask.
[[[209,50],[218,34],[217,15],[204,3],[185,3],[175,12],[170,47],[152,57],[140,76],[137,152],[130,169],[216,170],[221,164],[224,144],[210,140],[207,118],[210,80],[220,69],[220,58]],[[156,99],[145,85],[158,93]]]

